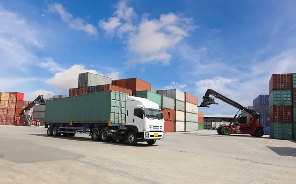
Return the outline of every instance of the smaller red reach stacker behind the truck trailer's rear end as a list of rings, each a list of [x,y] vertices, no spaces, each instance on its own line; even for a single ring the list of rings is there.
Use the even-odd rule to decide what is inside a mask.
[[[28,110],[34,107],[36,104],[45,105],[45,100],[43,99],[43,95],[39,95],[34,101],[32,101],[28,106],[24,107],[20,113],[18,113],[19,118],[17,118],[14,122],[14,125],[22,124],[23,126],[40,126],[40,121],[36,121],[33,119],[32,113],[29,115],[26,114]]]

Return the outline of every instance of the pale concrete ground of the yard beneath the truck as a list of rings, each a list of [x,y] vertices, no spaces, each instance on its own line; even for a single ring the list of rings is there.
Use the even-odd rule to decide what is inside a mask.
[[[133,147],[0,126],[0,184],[295,184],[295,174],[296,142],[268,136],[200,130]]]

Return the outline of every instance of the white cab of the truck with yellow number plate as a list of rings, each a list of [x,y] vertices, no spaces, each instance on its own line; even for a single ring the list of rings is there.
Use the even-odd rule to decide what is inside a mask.
[[[125,125],[127,130],[136,133],[138,141],[155,143],[164,137],[162,110],[158,104],[145,98],[128,96]]]

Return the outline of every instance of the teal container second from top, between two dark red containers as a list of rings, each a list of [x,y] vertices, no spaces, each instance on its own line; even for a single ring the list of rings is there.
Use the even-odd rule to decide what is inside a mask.
[[[273,90],[269,96],[269,108],[271,106],[291,106],[292,91],[291,90]]]

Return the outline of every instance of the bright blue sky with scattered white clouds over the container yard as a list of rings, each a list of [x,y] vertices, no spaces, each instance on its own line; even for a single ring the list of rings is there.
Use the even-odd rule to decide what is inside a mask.
[[[68,94],[78,73],[250,106],[296,72],[294,0],[0,0],[0,91]],[[233,114],[219,102],[205,114]]]

